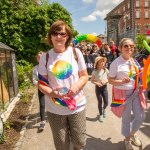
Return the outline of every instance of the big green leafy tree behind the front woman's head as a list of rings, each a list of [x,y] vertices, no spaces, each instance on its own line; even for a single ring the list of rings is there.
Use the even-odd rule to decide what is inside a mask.
[[[71,14],[60,4],[48,4],[45,0],[1,0],[0,1],[0,41],[16,51],[17,60],[34,62],[39,50],[49,49],[42,42],[51,24],[64,20],[74,31]],[[59,11],[58,11],[59,10]]]

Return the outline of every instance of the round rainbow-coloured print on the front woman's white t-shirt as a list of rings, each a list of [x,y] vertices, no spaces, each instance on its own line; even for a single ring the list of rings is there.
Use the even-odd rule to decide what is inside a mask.
[[[67,79],[72,74],[72,65],[67,61],[59,60],[54,64],[52,73],[58,79]]]

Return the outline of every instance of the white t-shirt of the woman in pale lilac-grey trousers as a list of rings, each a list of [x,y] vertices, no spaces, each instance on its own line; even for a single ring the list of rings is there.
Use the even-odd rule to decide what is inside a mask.
[[[131,71],[129,69],[129,66],[130,66],[130,61],[123,59],[122,56],[119,56],[110,65],[109,77],[113,77],[118,80],[122,80],[124,77],[130,77]],[[129,83],[125,83],[120,86],[115,86],[115,88],[123,89],[123,90],[134,89],[136,72],[132,72],[132,74],[134,75],[130,77]]]

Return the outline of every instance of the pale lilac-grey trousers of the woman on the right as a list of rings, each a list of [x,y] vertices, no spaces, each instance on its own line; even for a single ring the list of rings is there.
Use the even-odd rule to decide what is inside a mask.
[[[132,94],[132,90],[126,92],[128,98]],[[127,99],[130,101],[131,99]],[[140,128],[145,119],[144,109],[141,107],[138,92],[134,95],[133,100],[127,102],[125,110],[122,114],[122,134],[125,137],[130,136],[132,131],[136,132]]]

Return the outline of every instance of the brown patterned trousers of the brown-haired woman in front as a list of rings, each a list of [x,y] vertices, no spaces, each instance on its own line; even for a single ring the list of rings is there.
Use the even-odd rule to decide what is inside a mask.
[[[57,115],[47,112],[56,150],[69,150],[70,140],[74,150],[81,150],[86,144],[85,110],[71,115]]]

